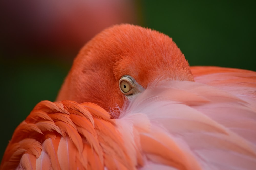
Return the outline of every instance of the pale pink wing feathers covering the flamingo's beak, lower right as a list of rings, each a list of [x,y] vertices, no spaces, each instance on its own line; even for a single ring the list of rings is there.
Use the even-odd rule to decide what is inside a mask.
[[[129,120],[140,136],[138,150],[144,155],[143,161],[151,165],[254,169],[256,110],[251,103],[255,102],[206,84],[163,81],[152,83],[125,105],[116,121],[120,121],[122,132]],[[127,134],[131,135],[125,139],[134,143],[136,136]]]

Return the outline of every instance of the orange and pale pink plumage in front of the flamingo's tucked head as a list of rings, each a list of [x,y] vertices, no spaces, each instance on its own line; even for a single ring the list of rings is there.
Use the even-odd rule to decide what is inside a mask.
[[[92,103],[42,101],[15,130],[1,168],[14,168],[14,162],[21,169],[256,166],[256,111],[222,89],[198,82],[152,83],[120,112],[111,119]]]

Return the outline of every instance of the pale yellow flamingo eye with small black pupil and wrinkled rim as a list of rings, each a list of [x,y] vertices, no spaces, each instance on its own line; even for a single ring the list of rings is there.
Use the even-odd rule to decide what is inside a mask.
[[[125,95],[133,94],[134,82],[128,76],[123,76],[119,80],[120,91]]]

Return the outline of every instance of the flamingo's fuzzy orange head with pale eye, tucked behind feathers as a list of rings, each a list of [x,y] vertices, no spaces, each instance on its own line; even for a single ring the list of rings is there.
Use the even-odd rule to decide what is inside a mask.
[[[110,111],[161,79],[194,81],[172,38],[140,26],[116,25],[81,49],[57,101],[93,102]]]

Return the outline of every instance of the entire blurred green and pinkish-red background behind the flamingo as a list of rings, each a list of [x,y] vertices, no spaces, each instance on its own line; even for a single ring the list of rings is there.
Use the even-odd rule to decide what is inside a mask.
[[[190,65],[256,71],[255,1],[3,0],[0,2],[0,159],[16,126],[54,101],[79,49],[119,23],[163,32]]]

